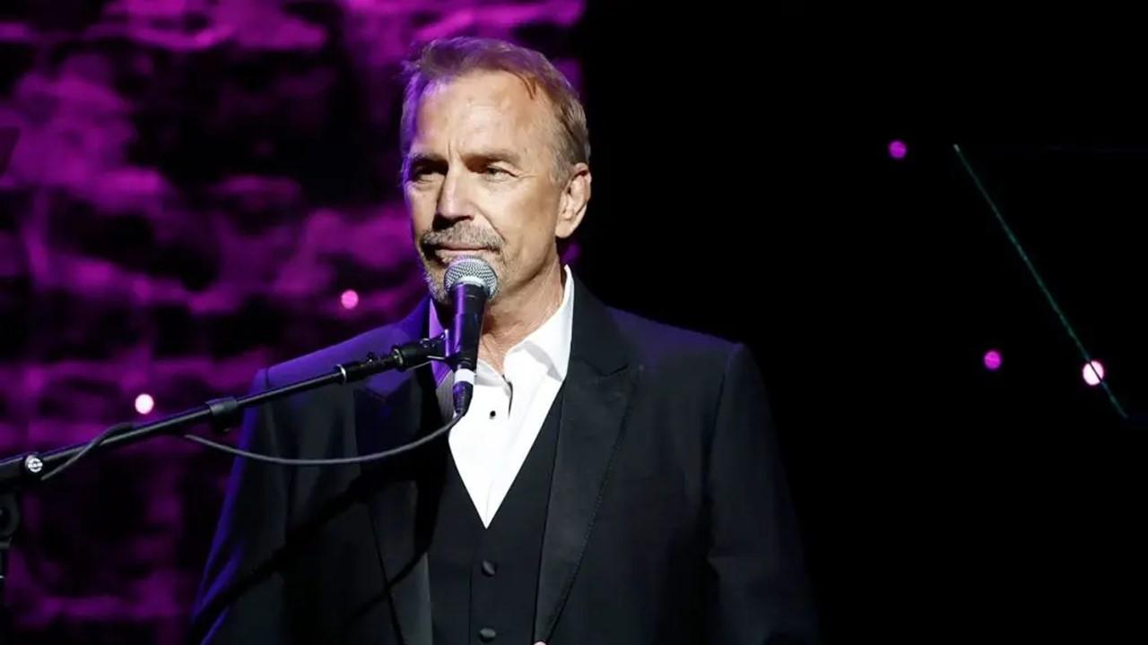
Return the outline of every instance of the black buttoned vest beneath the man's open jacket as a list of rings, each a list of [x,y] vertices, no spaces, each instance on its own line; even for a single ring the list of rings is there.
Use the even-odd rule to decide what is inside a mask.
[[[427,553],[435,645],[533,645],[561,401],[559,390],[490,527],[482,526],[448,448]]]

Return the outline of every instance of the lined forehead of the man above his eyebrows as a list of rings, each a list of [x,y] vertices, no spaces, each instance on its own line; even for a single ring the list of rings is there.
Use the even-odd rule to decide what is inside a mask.
[[[412,151],[494,145],[541,151],[552,118],[545,93],[540,90],[532,96],[520,78],[505,71],[433,84],[422,93],[417,114]]]

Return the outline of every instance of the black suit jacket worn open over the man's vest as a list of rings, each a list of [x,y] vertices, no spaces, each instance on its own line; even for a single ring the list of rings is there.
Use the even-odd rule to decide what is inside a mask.
[[[427,306],[262,371],[256,389],[421,337]],[[812,642],[801,550],[750,352],[608,309],[579,281],[574,309],[535,640]],[[319,458],[409,442],[442,422],[426,372],[282,399],[248,414],[241,443]],[[238,460],[192,640],[429,645],[439,448],[362,467]]]

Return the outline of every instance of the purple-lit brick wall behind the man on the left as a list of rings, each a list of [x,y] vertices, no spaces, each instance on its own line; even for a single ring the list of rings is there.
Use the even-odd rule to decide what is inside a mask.
[[[509,38],[577,85],[581,0],[16,0],[0,7],[0,452],[246,390],[424,286],[397,179],[412,42]],[[354,289],[348,310],[340,295]],[[230,458],[176,438],[25,495],[22,640],[177,643]]]

